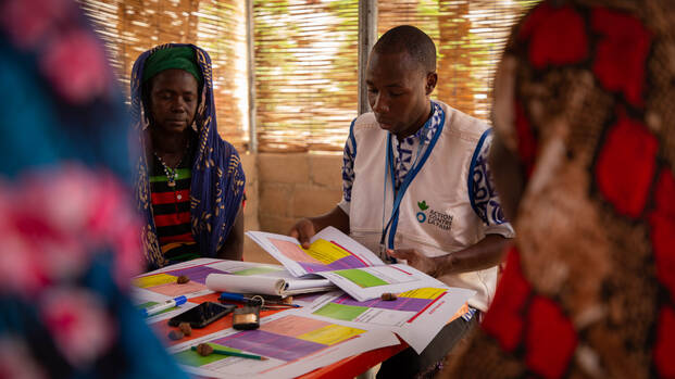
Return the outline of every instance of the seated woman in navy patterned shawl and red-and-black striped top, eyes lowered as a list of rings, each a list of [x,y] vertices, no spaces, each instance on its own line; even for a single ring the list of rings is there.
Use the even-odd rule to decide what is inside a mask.
[[[199,256],[241,260],[245,176],[236,149],[217,134],[209,54],[192,45],[142,53],[132,116],[146,152],[136,188],[149,268]]]

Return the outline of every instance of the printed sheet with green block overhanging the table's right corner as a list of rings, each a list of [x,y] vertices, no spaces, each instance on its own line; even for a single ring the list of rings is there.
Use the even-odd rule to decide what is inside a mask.
[[[392,301],[360,302],[340,291],[316,299],[299,311],[354,328],[382,328],[399,334],[417,353],[426,348],[475,291],[446,286],[420,288],[397,294]]]

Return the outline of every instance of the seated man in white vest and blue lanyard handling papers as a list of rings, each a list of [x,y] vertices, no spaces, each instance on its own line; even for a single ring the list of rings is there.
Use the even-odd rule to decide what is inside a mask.
[[[372,113],[351,125],[345,146],[343,199],[290,230],[303,244],[334,226],[379,252],[448,283],[474,289],[470,312],[417,356],[411,349],[378,376],[412,377],[434,366],[477,323],[495,291],[497,265],[513,230],[489,180],[490,131],[439,101],[436,48],[412,26],[377,41],[366,71]]]

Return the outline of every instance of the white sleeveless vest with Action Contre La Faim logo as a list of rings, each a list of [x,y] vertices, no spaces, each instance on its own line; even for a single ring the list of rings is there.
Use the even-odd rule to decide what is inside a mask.
[[[485,237],[486,228],[472,209],[467,179],[472,156],[488,126],[438,103],[446,113],[445,125],[428,160],[401,200],[393,239],[395,249],[416,249],[427,256],[446,255],[473,245]],[[350,232],[353,239],[378,252],[383,206],[387,223],[393,204],[390,181],[383,199],[388,132],[379,127],[373,113],[361,115],[352,132],[357,156],[349,206]],[[487,311],[495,293],[497,267],[439,279],[448,286],[475,290],[476,295],[468,304]]]

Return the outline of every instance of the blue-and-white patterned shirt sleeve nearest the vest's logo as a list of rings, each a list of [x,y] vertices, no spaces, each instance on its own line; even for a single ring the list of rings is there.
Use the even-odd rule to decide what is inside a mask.
[[[476,215],[485,224],[486,235],[501,235],[513,238],[515,232],[504,219],[499,194],[495,189],[488,155],[492,143],[492,129],[487,129],[474,151],[468,167],[468,198]]]

